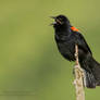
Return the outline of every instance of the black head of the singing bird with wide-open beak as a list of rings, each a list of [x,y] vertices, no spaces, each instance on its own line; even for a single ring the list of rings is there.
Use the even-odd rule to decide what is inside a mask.
[[[68,18],[64,15],[51,16],[51,18],[54,20],[54,22],[51,24],[53,27],[61,27],[67,24],[70,25]]]

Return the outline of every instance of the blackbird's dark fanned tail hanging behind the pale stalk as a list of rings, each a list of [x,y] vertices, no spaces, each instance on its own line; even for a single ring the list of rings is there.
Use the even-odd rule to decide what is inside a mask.
[[[96,88],[96,86],[100,86],[100,64],[91,55],[87,57],[79,63],[84,68],[84,85],[87,88]]]

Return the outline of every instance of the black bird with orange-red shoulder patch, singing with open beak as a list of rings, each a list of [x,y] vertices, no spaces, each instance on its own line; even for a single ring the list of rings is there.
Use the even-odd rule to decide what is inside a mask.
[[[85,85],[87,88],[100,86],[100,64],[93,59],[83,35],[71,25],[64,15],[52,16],[54,23],[54,38],[61,54],[68,61],[75,61],[75,45],[78,46],[79,64],[85,73]]]

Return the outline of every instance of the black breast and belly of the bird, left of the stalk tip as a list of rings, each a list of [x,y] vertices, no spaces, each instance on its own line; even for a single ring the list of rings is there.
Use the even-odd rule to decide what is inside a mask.
[[[55,37],[55,41],[57,41],[57,46],[58,46],[58,49],[59,51],[61,52],[61,54],[70,60],[70,61],[74,61],[75,58],[74,58],[74,47],[75,47],[75,43],[73,40],[71,40],[70,38],[67,37],[63,37],[60,38],[60,37]]]

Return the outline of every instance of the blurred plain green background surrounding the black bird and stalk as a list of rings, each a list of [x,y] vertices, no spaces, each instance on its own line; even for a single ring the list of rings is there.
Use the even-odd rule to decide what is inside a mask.
[[[99,11],[99,0],[0,0],[0,100],[75,100],[74,63],[58,52],[49,16],[67,15],[100,61]],[[99,93],[86,89],[86,100]]]

